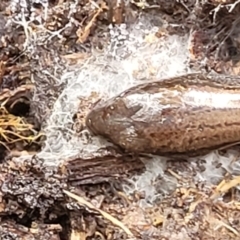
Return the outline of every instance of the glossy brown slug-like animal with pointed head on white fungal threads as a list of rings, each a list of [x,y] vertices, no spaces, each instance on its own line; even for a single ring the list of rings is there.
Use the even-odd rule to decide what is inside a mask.
[[[87,127],[128,152],[195,156],[240,142],[240,78],[188,74],[97,104]]]

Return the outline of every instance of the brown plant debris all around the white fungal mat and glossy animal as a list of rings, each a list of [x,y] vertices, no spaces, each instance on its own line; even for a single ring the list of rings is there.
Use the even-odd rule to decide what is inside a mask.
[[[192,69],[239,75],[240,1],[0,2],[0,239],[239,239],[237,173],[210,185],[195,181],[200,163],[168,160],[169,178],[151,183],[161,196],[142,206],[144,192],[123,191],[123,183],[136,184],[135,174],[147,171],[138,156],[105,149],[50,167],[35,155],[68,83],[63,73],[104,51],[113,36],[124,44],[129,36],[113,26],[144,14],[156,16],[149,43],[187,33]],[[84,135],[85,115],[98,98],[79,99],[71,134]],[[176,181],[164,189],[171,177]]]

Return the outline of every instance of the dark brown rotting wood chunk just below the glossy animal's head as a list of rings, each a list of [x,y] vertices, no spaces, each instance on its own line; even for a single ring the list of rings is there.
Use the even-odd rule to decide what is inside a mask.
[[[64,163],[62,169],[67,172],[70,184],[75,186],[123,179],[134,172],[144,170],[144,164],[138,157],[131,155],[107,155],[69,160]]]

